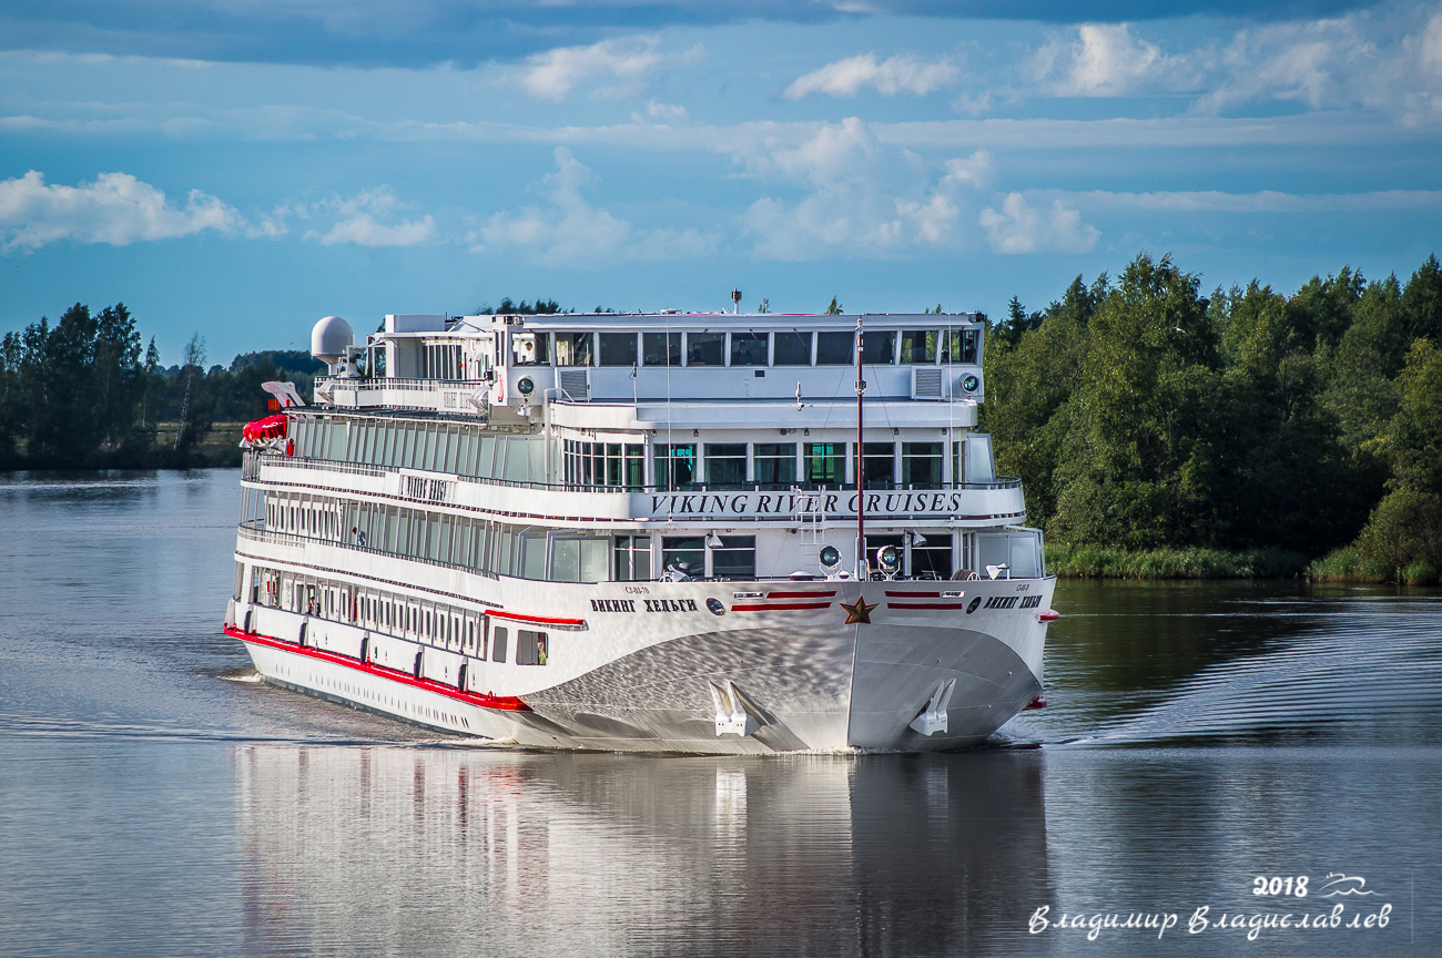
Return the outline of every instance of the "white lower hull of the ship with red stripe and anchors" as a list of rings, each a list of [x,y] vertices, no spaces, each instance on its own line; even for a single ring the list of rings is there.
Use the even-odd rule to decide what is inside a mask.
[[[952,749],[985,740],[1041,691],[1054,579],[771,585],[784,592],[760,595],[782,599],[737,599],[734,583],[647,583],[630,588],[652,598],[622,601],[616,583],[542,586],[570,592],[584,612],[584,628],[549,632],[545,666],[260,606],[234,606],[228,631],[277,684],[528,746]],[[963,595],[942,601],[943,585]],[[708,612],[708,599],[722,612]],[[846,625],[844,606],[858,599],[871,622]],[[994,599],[1012,608],[983,608]],[[924,605],[946,608],[916,608]]]

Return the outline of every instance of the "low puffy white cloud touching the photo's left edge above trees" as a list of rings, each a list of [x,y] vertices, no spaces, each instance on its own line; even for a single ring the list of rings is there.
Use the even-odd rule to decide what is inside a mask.
[[[277,226],[251,226],[232,206],[190,190],[183,207],[160,189],[128,173],[101,173],[94,183],[50,186],[30,170],[0,182],[0,248],[37,249],[69,239],[128,246],[205,230],[221,235],[275,235]]]

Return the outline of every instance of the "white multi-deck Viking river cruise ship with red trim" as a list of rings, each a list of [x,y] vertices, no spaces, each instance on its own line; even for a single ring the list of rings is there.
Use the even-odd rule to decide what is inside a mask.
[[[975,745],[1054,578],[985,317],[337,317],[245,429],[225,630],[275,684],[525,746]]]

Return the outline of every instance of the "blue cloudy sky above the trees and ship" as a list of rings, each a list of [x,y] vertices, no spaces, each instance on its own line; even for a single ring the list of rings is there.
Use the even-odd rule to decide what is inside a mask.
[[[1142,251],[1288,292],[1442,252],[1436,4],[17,0],[0,43],[0,330],[124,301],[167,363],[506,295],[1001,314]]]

